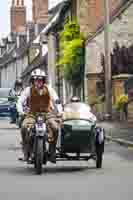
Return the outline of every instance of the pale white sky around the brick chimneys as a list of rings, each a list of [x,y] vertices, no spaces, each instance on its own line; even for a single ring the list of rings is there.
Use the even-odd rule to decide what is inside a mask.
[[[0,38],[7,36],[10,32],[10,6],[12,0],[1,0],[0,6]],[[62,0],[49,0],[49,7],[56,5]],[[27,6],[27,19],[31,20],[32,16],[32,0],[25,0]]]

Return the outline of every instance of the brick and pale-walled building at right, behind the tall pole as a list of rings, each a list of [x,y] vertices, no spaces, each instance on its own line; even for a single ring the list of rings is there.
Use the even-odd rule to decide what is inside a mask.
[[[111,67],[115,75],[112,77],[112,100],[115,104],[118,96],[127,94],[126,83],[133,74],[133,1],[110,0],[109,3]],[[81,31],[86,36],[85,96],[86,101],[92,103],[100,95],[99,86],[104,80],[104,1],[77,0],[76,7]],[[131,104],[129,108],[131,111]]]

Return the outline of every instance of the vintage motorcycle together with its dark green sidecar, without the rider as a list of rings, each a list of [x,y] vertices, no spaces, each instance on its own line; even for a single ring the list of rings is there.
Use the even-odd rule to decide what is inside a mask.
[[[37,174],[41,174],[43,165],[49,160],[47,125],[42,114],[36,116],[35,126],[29,131],[34,168]],[[96,117],[87,104],[65,105],[56,145],[56,161],[94,159],[96,168],[101,168],[104,141],[105,131],[97,127]]]

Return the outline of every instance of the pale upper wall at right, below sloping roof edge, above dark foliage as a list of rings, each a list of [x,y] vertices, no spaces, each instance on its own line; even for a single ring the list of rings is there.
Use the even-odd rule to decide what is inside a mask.
[[[133,44],[133,4],[131,4],[122,14],[121,18],[116,18],[110,24],[110,47],[113,49],[114,42],[117,41],[120,46],[126,47]],[[99,49],[104,53],[104,31],[100,32],[94,41]],[[86,48],[89,48],[90,41],[86,42]],[[89,48],[90,49],[90,48]]]

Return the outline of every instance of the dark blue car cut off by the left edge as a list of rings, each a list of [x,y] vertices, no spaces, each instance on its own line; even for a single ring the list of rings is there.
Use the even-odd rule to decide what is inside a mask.
[[[10,102],[8,101],[9,91],[11,88],[0,88],[0,116],[10,116]]]

